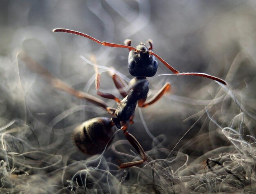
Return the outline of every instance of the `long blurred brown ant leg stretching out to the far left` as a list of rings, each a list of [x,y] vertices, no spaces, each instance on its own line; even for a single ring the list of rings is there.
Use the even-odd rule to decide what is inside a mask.
[[[114,115],[115,108],[108,107],[108,104],[106,104],[103,100],[92,96],[90,94],[87,94],[83,91],[77,91],[76,89],[70,87],[69,85],[65,84],[63,81],[59,80],[58,78],[54,77],[49,71],[47,71],[44,67],[39,65],[34,59],[32,59],[25,51],[21,51],[19,53],[20,59],[25,62],[25,65],[32,71],[42,75],[45,80],[47,80],[53,87],[56,89],[65,91],[69,94],[72,94],[73,96],[76,96],[77,98],[85,99],[93,103],[94,105],[97,105],[99,107],[102,107],[105,109],[108,114]]]

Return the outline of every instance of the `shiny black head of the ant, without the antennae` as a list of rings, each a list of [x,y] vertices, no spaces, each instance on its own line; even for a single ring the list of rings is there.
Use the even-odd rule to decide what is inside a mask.
[[[139,44],[136,49],[131,50],[128,56],[128,69],[135,77],[152,77],[157,72],[158,63],[155,56],[148,54],[148,48]]]

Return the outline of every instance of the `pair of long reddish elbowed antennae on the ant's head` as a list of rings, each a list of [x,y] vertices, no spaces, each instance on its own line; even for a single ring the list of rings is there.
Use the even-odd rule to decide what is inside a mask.
[[[90,40],[93,40],[94,42],[97,42],[100,45],[106,46],[106,47],[117,47],[117,48],[126,48],[129,50],[134,50],[136,52],[139,52],[139,50],[135,49],[134,47],[131,47],[129,45],[119,45],[119,44],[114,44],[114,43],[110,43],[110,42],[101,42],[95,38],[93,38],[92,36],[89,36],[85,33],[81,33],[78,31],[74,31],[74,30],[69,30],[69,29],[62,29],[62,28],[56,28],[54,30],[52,30],[53,32],[66,32],[66,33],[72,33],[72,34],[76,34],[79,36],[83,36],[85,38],[89,38]],[[150,45],[151,46],[151,45]],[[152,47],[152,46],[151,46]],[[148,54],[155,56],[156,58],[158,58],[168,69],[170,69],[171,71],[173,71],[174,74],[177,75],[182,75],[182,76],[200,76],[200,77],[204,77],[204,78],[209,78],[212,80],[216,80],[224,85],[227,85],[227,83],[220,79],[217,78],[215,76],[211,76],[209,74],[204,74],[204,73],[180,73],[179,71],[177,71],[176,69],[174,69],[171,65],[169,65],[164,59],[162,59],[161,57],[159,57],[157,54],[153,53],[152,51],[148,51]]]

